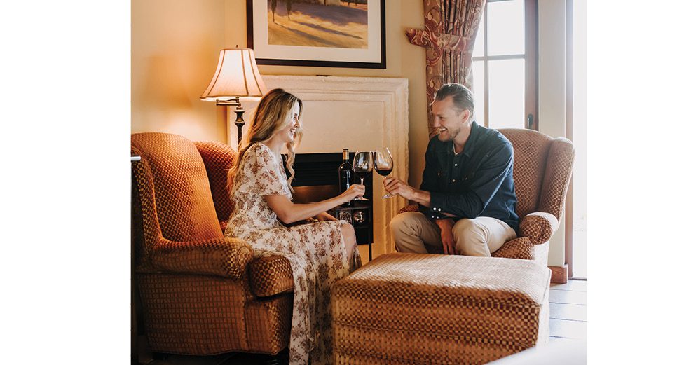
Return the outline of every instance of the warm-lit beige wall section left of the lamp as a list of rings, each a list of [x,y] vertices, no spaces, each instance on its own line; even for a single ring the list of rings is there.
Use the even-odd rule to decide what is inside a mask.
[[[224,0],[132,1],[132,133],[226,140],[221,108],[199,100],[225,28]]]

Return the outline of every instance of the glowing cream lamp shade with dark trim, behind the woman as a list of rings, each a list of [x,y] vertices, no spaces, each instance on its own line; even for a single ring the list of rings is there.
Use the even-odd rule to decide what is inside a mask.
[[[216,73],[209,87],[199,98],[202,100],[230,99],[233,97],[261,97],[266,86],[261,80],[249,48],[225,48],[219,55]]]

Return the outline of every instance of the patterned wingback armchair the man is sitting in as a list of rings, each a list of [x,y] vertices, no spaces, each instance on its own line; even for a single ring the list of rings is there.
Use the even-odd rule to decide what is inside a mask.
[[[573,144],[534,130],[500,129],[514,145],[514,184],[519,232],[493,257],[535,260],[547,266],[549,239],[559,228],[573,168]],[[417,205],[399,210],[411,212]],[[429,252],[442,253],[433,247]]]

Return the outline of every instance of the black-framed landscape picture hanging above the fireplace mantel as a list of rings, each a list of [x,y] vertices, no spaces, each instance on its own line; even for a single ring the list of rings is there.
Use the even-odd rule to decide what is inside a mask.
[[[247,0],[257,64],[386,68],[385,0]]]

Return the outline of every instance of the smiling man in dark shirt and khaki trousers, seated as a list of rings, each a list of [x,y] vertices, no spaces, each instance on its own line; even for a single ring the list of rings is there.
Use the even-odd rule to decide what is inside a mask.
[[[389,193],[418,202],[420,212],[391,220],[399,252],[490,256],[516,237],[514,149],[497,130],[474,121],[472,93],[458,83],[443,85],[432,102],[434,127],[425,153],[420,189],[389,177]]]

